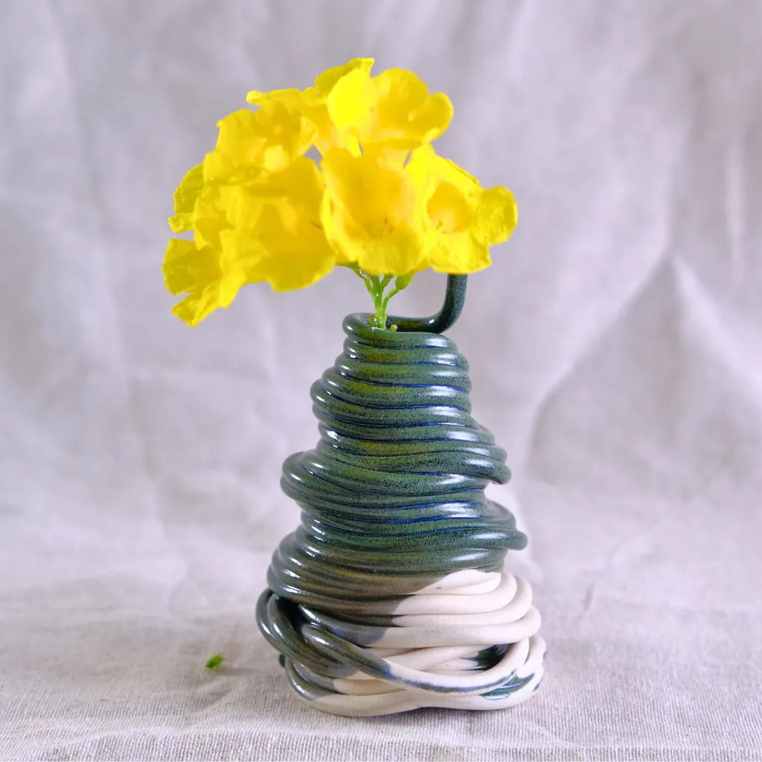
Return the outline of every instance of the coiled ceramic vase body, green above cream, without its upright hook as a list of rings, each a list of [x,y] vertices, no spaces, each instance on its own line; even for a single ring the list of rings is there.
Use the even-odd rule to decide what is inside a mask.
[[[470,415],[450,339],[344,320],[344,353],[312,386],[321,439],[283,464],[302,525],[283,539],[258,623],[291,685],[347,716],[499,709],[543,678],[529,584],[504,569],[527,537],[485,498],[510,478]]]

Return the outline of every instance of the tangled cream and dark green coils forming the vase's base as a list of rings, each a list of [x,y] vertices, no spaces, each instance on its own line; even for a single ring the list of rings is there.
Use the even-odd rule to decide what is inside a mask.
[[[258,619],[283,653],[293,689],[323,712],[504,709],[541,684],[545,642],[537,634],[530,585],[509,571],[490,576],[497,585],[484,592],[479,587],[488,575],[478,573],[465,587],[443,578],[439,594],[426,588],[407,597],[406,613],[398,610],[389,627],[295,606],[271,591],[260,601]]]

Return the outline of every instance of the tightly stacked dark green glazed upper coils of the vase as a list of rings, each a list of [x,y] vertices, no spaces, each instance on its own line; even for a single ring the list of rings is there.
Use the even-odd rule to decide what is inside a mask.
[[[311,390],[320,442],[283,464],[303,517],[274,555],[271,590],[383,613],[453,571],[499,571],[527,538],[485,498],[510,472],[470,415],[466,358],[448,338],[371,328],[366,315],[344,331],[344,354]]]

